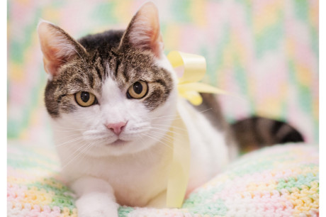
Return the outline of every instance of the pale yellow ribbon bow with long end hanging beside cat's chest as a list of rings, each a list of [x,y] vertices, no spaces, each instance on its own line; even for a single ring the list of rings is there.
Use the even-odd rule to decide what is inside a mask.
[[[184,66],[184,73],[179,78],[179,96],[189,100],[193,105],[200,105],[203,101],[201,93],[227,94],[226,91],[217,89],[208,84],[199,83],[206,73],[206,60],[199,55],[188,54],[179,51],[169,52],[167,55],[172,67]],[[182,130],[184,129],[184,130]],[[180,131],[181,130],[181,131]],[[190,167],[190,143],[184,121],[177,113],[177,117],[169,130],[170,138],[173,138],[173,160],[169,169],[167,183],[167,207],[180,208],[186,194]]]

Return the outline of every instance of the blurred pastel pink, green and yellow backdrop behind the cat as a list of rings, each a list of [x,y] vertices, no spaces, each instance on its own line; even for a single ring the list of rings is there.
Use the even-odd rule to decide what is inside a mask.
[[[49,141],[43,103],[47,74],[40,18],[74,38],[125,28],[145,1],[8,1],[8,137]],[[286,120],[318,141],[318,1],[154,1],[166,52],[206,57],[205,82],[221,96],[227,120],[252,114]]]

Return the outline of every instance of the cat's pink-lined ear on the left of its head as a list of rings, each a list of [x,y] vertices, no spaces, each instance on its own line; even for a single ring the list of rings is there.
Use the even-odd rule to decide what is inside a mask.
[[[43,52],[44,69],[52,77],[57,76],[64,63],[86,53],[82,45],[50,22],[38,23],[38,37]]]

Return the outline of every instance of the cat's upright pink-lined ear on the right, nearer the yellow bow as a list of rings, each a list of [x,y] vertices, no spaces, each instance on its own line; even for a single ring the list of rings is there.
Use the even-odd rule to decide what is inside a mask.
[[[133,16],[119,48],[125,45],[150,50],[158,58],[163,54],[164,43],[159,31],[159,14],[152,2],[144,4]]]

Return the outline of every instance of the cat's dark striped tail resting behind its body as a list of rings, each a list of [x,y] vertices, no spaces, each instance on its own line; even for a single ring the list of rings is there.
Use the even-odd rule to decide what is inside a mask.
[[[279,143],[303,142],[303,136],[283,121],[253,116],[231,125],[240,152],[256,150]]]

